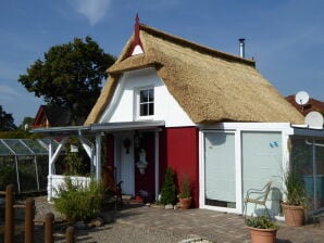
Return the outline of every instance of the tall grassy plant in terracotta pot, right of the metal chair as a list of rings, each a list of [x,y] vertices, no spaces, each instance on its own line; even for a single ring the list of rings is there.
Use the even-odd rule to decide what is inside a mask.
[[[287,226],[302,226],[304,223],[304,210],[307,193],[301,176],[294,169],[289,169],[284,177],[286,201],[282,203]]]

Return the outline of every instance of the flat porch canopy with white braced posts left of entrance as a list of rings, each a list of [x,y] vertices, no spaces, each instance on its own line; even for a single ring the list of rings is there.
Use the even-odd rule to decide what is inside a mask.
[[[125,122],[125,123],[102,123],[91,124],[87,126],[70,126],[70,127],[50,127],[33,129],[34,133],[42,133],[50,138],[62,138],[57,148],[49,144],[49,171],[48,188],[52,188],[51,177],[54,175],[54,162],[60,155],[70,137],[77,137],[85,149],[91,162],[91,172],[95,172],[96,180],[100,180],[101,175],[101,137],[107,132],[124,131],[124,130],[148,130],[157,129],[164,126],[164,120],[149,122]],[[96,142],[91,142],[86,137],[96,137]],[[53,140],[53,139],[52,139]],[[52,190],[49,191],[49,200],[52,197]]]

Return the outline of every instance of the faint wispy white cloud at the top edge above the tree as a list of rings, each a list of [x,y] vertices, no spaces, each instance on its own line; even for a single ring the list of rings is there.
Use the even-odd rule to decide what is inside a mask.
[[[88,18],[90,25],[96,25],[105,16],[110,3],[111,0],[74,0],[73,5]]]

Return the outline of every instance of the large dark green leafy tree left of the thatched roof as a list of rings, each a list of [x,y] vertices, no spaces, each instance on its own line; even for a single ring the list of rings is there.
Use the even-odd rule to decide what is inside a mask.
[[[18,82],[36,97],[42,97],[50,105],[67,108],[72,123],[84,119],[97,101],[107,68],[115,61],[90,37],[85,42],[54,46],[21,75]]]

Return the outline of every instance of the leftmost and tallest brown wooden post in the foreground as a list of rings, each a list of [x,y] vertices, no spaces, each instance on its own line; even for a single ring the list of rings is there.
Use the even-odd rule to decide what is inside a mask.
[[[5,188],[5,216],[4,216],[4,243],[14,242],[14,186],[9,184]]]

